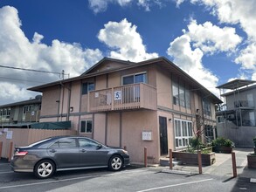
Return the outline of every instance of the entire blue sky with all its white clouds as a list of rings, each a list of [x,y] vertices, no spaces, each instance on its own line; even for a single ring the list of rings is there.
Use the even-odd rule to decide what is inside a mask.
[[[1,0],[0,65],[74,77],[103,57],[164,56],[218,94],[231,79],[256,79],[254,10],[254,0]],[[0,67],[0,105],[55,80]]]

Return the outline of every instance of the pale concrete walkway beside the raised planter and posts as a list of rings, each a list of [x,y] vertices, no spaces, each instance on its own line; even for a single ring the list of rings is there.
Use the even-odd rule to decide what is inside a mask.
[[[236,154],[237,175],[239,177],[256,179],[256,168],[247,168],[246,155],[249,153],[253,153],[253,149],[235,148],[233,151]],[[198,167],[190,165],[178,165],[173,168],[173,172],[190,173],[190,175],[193,175],[198,174]],[[232,154],[216,153],[216,162],[211,166],[203,167],[203,174],[222,175],[228,178],[232,177]]]

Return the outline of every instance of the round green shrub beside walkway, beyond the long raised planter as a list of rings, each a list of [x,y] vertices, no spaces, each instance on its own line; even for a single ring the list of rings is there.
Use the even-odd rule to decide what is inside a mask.
[[[231,154],[234,147],[234,143],[224,137],[218,137],[211,142],[212,151],[216,153]]]

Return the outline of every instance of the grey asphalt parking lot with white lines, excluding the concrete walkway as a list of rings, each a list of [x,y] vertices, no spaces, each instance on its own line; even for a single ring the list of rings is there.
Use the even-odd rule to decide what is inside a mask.
[[[120,172],[91,169],[59,172],[38,180],[32,174],[13,173],[8,162],[0,163],[0,191],[256,191],[247,178],[220,175],[176,175],[163,168],[128,167]]]

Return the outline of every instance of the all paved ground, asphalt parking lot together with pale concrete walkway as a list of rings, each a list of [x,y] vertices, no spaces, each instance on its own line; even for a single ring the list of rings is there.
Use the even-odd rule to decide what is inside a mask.
[[[7,161],[0,161],[0,191],[2,192],[63,192],[63,191],[256,191],[256,169],[247,168],[247,148],[235,148],[238,176],[233,178],[232,154],[216,154],[216,162],[203,167],[198,174],[197,166],[176,166],[173,174],[165,174],[168,167],[138,168],[130,166],[120,172],[107,169],[58,172],[52,178],[38,180],[33,174],[13,173]],[[177,172],[179,175],[176,175]],[[187,174],[190,175],[187,175]]]

